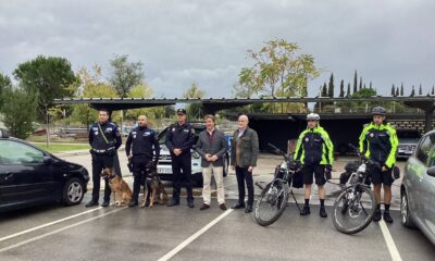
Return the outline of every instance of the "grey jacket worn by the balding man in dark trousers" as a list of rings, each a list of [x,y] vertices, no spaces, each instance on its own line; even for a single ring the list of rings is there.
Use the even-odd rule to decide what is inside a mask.
[[[238,137],[239,130],[234,132],[232,141],[231,164],[234,166],[257,166],[259,154],[259,140],[257,132],[246,127],[244,134]],[[237,146],[238,145],[238,146]],[[236,162],[237,149],[239,149],[239,158]]]

